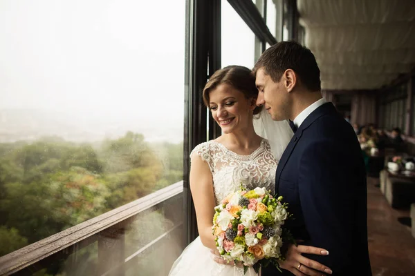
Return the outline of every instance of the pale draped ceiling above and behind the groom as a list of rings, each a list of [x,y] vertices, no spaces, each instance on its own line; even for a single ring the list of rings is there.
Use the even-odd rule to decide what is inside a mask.
[[[297,8],[322,89],[376,89],[414,68],[414,0],[297,0]]]

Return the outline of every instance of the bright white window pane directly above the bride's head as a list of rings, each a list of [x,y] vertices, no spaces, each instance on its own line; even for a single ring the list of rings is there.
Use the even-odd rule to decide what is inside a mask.
[[[240,65],[253,68],[255,65],[255,34],[228,1],[221,1],[222,68]]]

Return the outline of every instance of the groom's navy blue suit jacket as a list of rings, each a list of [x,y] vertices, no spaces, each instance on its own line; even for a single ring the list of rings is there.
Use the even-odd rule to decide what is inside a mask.
[[[371,275],[365,164],[353,128],[332,103],[311,112],[295,132],[279,161],[275,190],[295,217],[286,224],[295,239],[329,250],[305,257],[333,275]],[[293,274],[265,268],[263,275]]]

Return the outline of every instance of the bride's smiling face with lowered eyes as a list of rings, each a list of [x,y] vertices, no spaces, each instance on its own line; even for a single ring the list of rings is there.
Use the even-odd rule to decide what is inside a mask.
[[[244,130],[252,124],[255,99],[246,99],[243,92],[228,83],[221,83],[209,93],[209,108],[223,133]]]

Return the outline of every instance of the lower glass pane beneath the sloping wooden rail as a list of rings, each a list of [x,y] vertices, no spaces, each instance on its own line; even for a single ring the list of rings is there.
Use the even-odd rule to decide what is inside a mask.
[[[184,247],[182,209],[183,193],[29,266],[30,275],[167,275]]]

